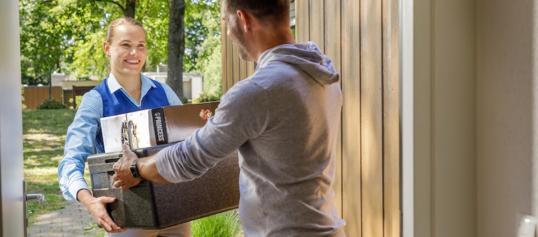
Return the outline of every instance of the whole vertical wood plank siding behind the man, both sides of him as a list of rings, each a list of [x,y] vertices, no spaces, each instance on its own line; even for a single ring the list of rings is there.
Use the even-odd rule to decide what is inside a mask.
[[[296,38],[340,72],[335,201],[347,236],[400,236],[397,0],[296,0]],[[223,93],[254,72],[222,28]]]

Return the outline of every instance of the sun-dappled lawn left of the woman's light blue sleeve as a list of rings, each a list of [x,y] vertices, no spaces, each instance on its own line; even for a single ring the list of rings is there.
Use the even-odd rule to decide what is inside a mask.
[[[45,194],[45,204],[27,202],[29,224],[36,215],[59,210],[66,201],[58,188],[57,167],[64,153],[66,130],[74,109],[29,110],[22,112],[24,180],[27,193]]]

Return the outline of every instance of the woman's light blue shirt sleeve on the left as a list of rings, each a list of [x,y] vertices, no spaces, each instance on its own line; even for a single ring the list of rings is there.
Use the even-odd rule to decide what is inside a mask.
[[[99,92],[85,93],[73,123],[67,128],[64,157],[58,165],[59,188],[67,200],[75,201],[79,190],[89,190],[84,169],[88,155],[94,154],[102,116],[103,101]]]

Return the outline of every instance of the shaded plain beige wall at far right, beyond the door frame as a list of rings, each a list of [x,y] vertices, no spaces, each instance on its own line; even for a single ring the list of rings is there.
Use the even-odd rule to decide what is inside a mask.
[[[477,0],[479,237],[522,236],[521,215],[538,216],[537,5]]]

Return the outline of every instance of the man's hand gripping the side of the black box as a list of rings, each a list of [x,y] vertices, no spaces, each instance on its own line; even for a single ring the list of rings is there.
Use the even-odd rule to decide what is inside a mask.
[[[112,166],[112,170],[115,174],[112,176],[114,182],[114,187],[122,188],[122,190],[127,190],[135,185],[138,185],[140,178],[133,178],[131,174],[131,163],[133,160],[138,159],[138,155],[133,153],[128,145],[122,147],[123,157],[117,160],[117,162]]]

